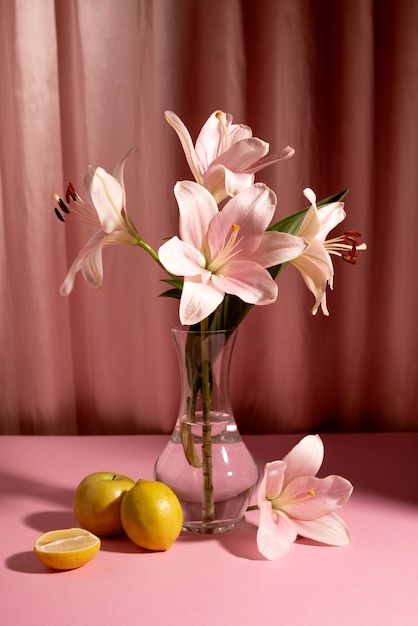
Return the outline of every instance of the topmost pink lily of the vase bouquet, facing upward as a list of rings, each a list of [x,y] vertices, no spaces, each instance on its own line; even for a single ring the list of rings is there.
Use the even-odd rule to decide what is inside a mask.
[[[295,153],[287,146],[280,154],[267,156],[269,144],[253,137],[248,126],[233,124],[232,115],[223,111],[212,113],[195,146],[186,126],[175,113],[166,111],[165,118],[181,141],[196,182],[206,187],[217,202],[250,187],[256,172],[289,159]]]

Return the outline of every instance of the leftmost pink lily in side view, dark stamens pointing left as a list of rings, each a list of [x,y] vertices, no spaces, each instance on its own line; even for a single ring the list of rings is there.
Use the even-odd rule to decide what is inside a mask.
[[[125,161],[132,153],[115,166],[113,176],[101,167],[97,167],[86,181],[90,192],[91,204],[85,202],[69,183],[65,201],[54,194],[58,202],[55,214],[64,222],[67,219],[78,219],[93,224],[97,230],[80,250],[77,258],[68,270],[61,285],[60,293],[68,296],[74,286],[77,272],[81,270],[85,280],[91,287],[98,288],[103,280],[102,250],[104,246],[116,243],[137,245],[138,232],[126,212],[125,186],[123,170]],[[65,216],[65,217],[64,217]]]

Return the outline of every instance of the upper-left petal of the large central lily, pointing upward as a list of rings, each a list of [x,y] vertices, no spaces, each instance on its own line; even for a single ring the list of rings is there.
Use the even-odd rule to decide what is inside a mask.
[[[200,250],[210,221],[218,213],[215,199],[205,187],[190,180],[176,183],[174,195],[180,211],[180,237]]]

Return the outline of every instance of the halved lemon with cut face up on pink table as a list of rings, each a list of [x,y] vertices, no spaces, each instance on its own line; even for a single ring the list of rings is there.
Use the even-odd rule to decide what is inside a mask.
[[[38,559],[53,569],[76,569],[91,561],[100,550],[100,539],[84,528],[65,528],[44,533],[33,549]]]

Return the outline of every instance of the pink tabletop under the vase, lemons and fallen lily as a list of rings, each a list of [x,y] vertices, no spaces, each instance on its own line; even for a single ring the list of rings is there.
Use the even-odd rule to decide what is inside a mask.
[[[262,465],[301,436],[247,437]],[[74,488],[109,470],[152,478],[167,437],[0,437],[3,626],[409,626],[418,624],[418,433],[326,435],[320,476],[354,494],[340,510],[353,543],[299,540],[278,561],[256,549],[257,513],[224,535],[184,535],[164,553],[104,540],[86,566],[53,572],[43,532],[75,526]]]

